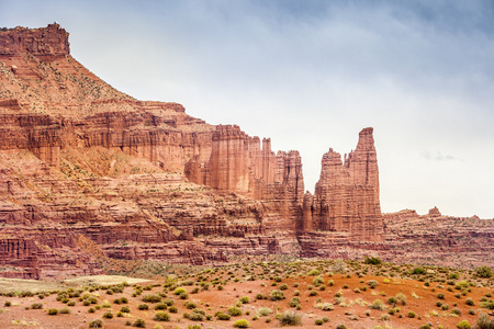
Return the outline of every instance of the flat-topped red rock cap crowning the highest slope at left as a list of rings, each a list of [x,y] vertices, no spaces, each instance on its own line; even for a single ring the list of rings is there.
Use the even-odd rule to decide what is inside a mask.
[[[68,36],[57,23],[41,29],[1,29],[0,56],[20,53],[45,58],[66,56],[70,54]]]

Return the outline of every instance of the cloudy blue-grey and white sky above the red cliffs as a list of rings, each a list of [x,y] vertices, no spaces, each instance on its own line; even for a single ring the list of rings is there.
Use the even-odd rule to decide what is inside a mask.
[[[0,0],[0,26],[54,21],[119,90],[299,150],[306,190],[371,126],[383,212],[494,217],[491,0]]]

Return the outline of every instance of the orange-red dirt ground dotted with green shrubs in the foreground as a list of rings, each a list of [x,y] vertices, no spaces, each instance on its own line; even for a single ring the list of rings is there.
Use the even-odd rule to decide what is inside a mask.
[[[302,268],[301,272],[306,273],[306,269],[313,264]],[[297,264],[296,266],[300,268]],[[247,269],[248,268],[248,269]],[[247,270],[246,270],[247,269]],[[321,266],[319,266],[321,269]],[[269,272],[263,279],[258,279],[261,271],[263,273]],[[431,324],[433,328],[457,328],[457,324],[461,320],[469,321],[470,325],[475,324],[480,313],[489,313],[486,308],[480,306],[481,298],[492,299],[494,291],[489,284],[487,286],[478,287],[480,285],[473,280],[471,285],[461,292],[456,288],[457,283],[462,279],[450,281],[442,280],[437,276],[437,282],[430,280],[408,280],[397,277],[386,277],[380,275],[362,275],[356,274],[353,271],[348,270],[345,274],[321,274],[321,279],[324,282],[317,287],[314,284],[316,275],[294,275],[285,274],[287,266],[280,266],[279,264],[272,265],[229,265],[226,268],[215,269],[210,272],[204,271],[200,274],[189,277],[179,277],[173,281],[171,290],[164,287],[166,282],[143,282],[135,284],[134,281],[126,277],[125,281],[131,284],[126,286],[122,293],[108,294],[108,287],[100,288],[94,292],[86,291],[81,293],[81,297],[85,293],[96,296],[98,303],[94,305],[83,306],[79,300],[81,297],[71,297],[69,300],[74,300],[74,306],[67,306],[63,300],[56,300],[57,294],[50,294],[49,296],[41,299],[37,295],[27,297],[9,297],[0,296],[0,328],[89,328],[89,324],[94,319],[102,319],[104,328],[126,328],[136,319],[144,319],[146,328],[188,328],[189,325],[198,325],[200,328],[234,328],[234,324],[238,319],[246,319],[250,324],[250,328],[276,328],[280,327],[280,321],[277,320],[277,314],[284,313],[285,310],[294,311],[301,316],[300,327],[303,328],[336,328],[338,325],[344,324],[347,328],[353,329],[369,329],[369,328],[403,328],[403,329],[416,329],[426,324]],[[372,272],[372,271],[369,271]],[[249,280],[250,275],[256,275],[254,281]],[[446,275],[446,274],[445,274]],[[266,277],[268,276],[268,277]],[[271,277],[271,279],[270,279]],[[122,277],[123,279],[123,277]],[[76,288],[78,286],[89,286],[91,283],[111,285],[121,283],[119,277],[79,277],[77,280],[65,281],[58,283],[67,288],[71,286]],[[378,286],[370,288],[368,282],[375,280]],[[467,279],[470,280],[470,279]],[[180,283],[182,281],[182,283]],[[187,283],[189,281],[189,283]],[[333,281],[333,285],[330,285]],[[186,284],[183,284],[186,282]],[[426,282],[429,282],[426,284]],[[202,283],[209,283],[207,290],[201,287]],[[27,284],[27,283],[24,283]],[[33,283],[29,283],[33,284]],[[54,287],[53,283],[47,284],[45,287]],[[132,286],[134,285],[135,286]],[[282,285],[285,286],[282,286]],[[177,286],[182,286],[188,292],[188,298],[182,299],[180,296],[173,294],[173,290]],[[220,290],[218,286],[222,286]],[[19,287],[27,287],[19,283]],[[42,284],[33,288],[44,291],[41,288]],[[141,288],[138,288],[141,287]],[[367,288],[364,288],[367,287]],[[450,287],[451,291],[448,291]],[[0,286],[1,291],[2,286]],[[198,292],[194,293],[193,290]],[[59,290],[59,288],[58,288]],[[135,295],[136,292],[142,290],[141,295]],[[270,293],[276,290],[281,290],[284,295],[284,299],[271,300],[269,298]],[[299,293],[297,293],[299,292]],[[311,293],[312,292],[312,293]],[[161,294],[162,299],[171,299],[173,306],[177,307],[177,313],[168,313],[170,315],[169,321],[155,321],[153,319],[156,310],[154,303],[146,303],[143,300],[145,295],[158,295]],[[257,299],[256,296],[262,294],[268,298]],[[299,294],[300,306],[299,309],[290,306],[292,297]],[[340,295],[337,297],[336,295]],[[388,303],[390,297],[403,294],[406,300],[405,305],[398,303],[395,307]],[[444,294],[444,298],[439,298],[438,294]],[[248,303],[240,304],[238,300],[242,297],[248,297]],[[487,297],[491,296],[491,297]],[[126,297],[127,304],[115,304],[115,299]],[[321,298],[321,299],[319,299]],[[474,305],[468,305],[467,298],[471,298]],[[372,309],[370,305],[375,300],[381,299],[383,308]],[[91,307],[96,305],[104,305],[108,307],[101,307],[101,309],[94,313],[89,313]],[[5,302],[10,302],[11,306],[5,306]],[[200,321],[192,321],[184,318],[184,314],[192,314],[193,310],[186,306],[187,302],[193,302],[197,304],[197,308],[204,311],[205,315],[211,316],[211,320],[202,319]],[[437,302],[447,304],[448,309],[442,309],[437,306]],[[43,309],[31,309],[35,303],[42,303]],[[321,303],[330,303],[334,305],[333,310],[322,310],[317,308]],[[138,309],[139,305],[147,304],[148,309]],[[232,316],[229,320],[218,320],[214,315],[216,311],[227,313],[227,308],[237,304],[242,309],[240,316]],[[131,313],[123,314],[122,317],[117,317],[119,310],[122,306],[128,306]],[[68,308],[70,314],[48,315],[49,308]],[[260,308],[270,308],[272,314],[269,316],[258,316]],[[390,315],[390,309],[394,308],[395,313]],[[453,314],[453,309],[457,314]],[[469,310],[472,314],[469,314]],[[103,318],[103,314],[111,311],[113,318]],[[414,317],[411,317],[414,313]],[[187,315],[186,315],[187,316]],[[327,317],[327,321],[322,326],[316,325],[317,319]],[[127,325],[126,325],[127,322]],[[132,328],[132,327],[127,327]]]

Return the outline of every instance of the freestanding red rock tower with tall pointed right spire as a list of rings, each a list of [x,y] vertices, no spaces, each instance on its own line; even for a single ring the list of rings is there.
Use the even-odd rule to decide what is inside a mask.
[[[359,134],[355,151],[341,156],[329,149],[323,156],[319,181],[313,197],[312,216],[305,214],[301,226],[348,231],[350,239],[379,241],[383,220],[379,201],[378,157],[372,128]],[[307,198],[308,202],[308,198]],[[304,208],[307,208],[304,205]]]

